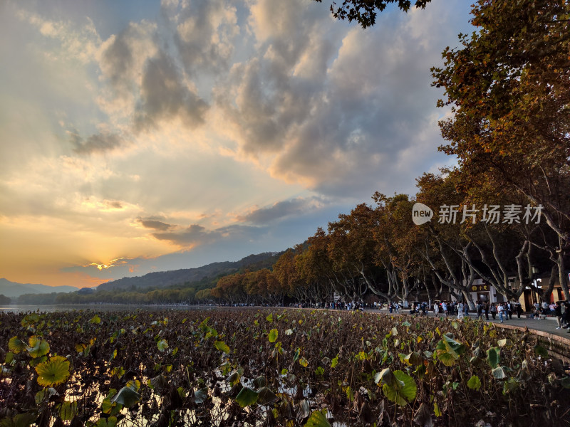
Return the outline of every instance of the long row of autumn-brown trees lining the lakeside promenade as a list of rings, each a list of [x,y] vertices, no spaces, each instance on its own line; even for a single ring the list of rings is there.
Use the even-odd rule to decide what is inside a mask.
[[[356,9],[337,17],[360,21],[366,5],[381,11],[387,2],[345,3]],[[508,300],[526,288],[549,300],[556,281],[570,299],[570,4],[480,0],[472,16],[477,31],[460,35],[460,48],[445,48],[444,65],[431,70],[444,90],[437,105],[451,108],[439,123],[440,151],[456,166],[420,176],[415,196],[374,194],[271,270],[222,278],[212,297],[408,300],[445,291],[472,303],[470,287],[482,278]],[[421,226],[416,202],[433,212]],[[537,288],[537,273],[548,275],[546,286]]]

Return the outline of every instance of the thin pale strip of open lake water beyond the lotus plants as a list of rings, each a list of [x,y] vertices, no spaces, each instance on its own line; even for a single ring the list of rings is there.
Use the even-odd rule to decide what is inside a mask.
[[[72,310],[97,311],[162,311],[162,310],[215,310],[213,305],[134,305],[134,304],[58,304],[58,305],[0,305],[0,313],[57,312]]]

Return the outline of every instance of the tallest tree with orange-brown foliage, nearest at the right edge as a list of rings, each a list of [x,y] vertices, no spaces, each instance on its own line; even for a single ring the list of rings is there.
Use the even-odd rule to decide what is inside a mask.
[[[472,15],[478,31],[432,68],[447,97],[438,105],[452,106],[440,149],[457,156],[467,192],[492,183],[542,206],[569,299],[570,2],[479,0]]]

